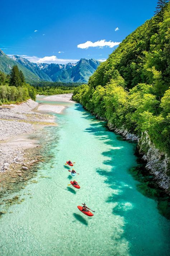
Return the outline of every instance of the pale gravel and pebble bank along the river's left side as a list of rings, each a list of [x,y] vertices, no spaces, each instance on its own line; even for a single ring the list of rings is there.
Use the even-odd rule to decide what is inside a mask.
[[[52,97],[68,102],[71,96]],[[61,113],[64,108],[39,104],[31,99],[0,106],[0,196],[13,191],[17,184],[22,187],[22,181],[33,177],[33,167],[43,161],[36,134],[41,133],[44,126],[56,125],[55,117],[49,112]],[[34,139],[31,138],[33,134]]]

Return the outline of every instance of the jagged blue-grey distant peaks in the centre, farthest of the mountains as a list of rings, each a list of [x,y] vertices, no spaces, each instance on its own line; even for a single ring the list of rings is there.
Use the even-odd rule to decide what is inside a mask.
[[[89,77],[100,65],[96,59],[80,59],[77,63],[47,64],[37,63],[37,67],[54,82],[88,82]]]

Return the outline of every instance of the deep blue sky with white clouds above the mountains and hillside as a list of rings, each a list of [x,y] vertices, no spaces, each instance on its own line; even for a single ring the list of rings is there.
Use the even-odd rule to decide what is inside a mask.
[[[157,0],[1,0],[0,49],[31,62],[104,61],[154,15],[156,5]]]

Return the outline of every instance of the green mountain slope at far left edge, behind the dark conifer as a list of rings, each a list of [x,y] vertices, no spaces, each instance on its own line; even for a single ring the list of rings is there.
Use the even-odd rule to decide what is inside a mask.
[[[2,50],[0,50],[0,71],[9,74],[11,68],[14,65],[18,65],[18,68],[22,70],[25,80],[27,82],[39,81],[38,75],[34,74],[31,70],[25,67],[23,64],[16,62],[14,59],[9,58]]]

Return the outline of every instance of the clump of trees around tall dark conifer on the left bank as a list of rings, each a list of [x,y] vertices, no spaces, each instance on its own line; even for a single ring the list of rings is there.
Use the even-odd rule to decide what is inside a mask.
[[[23,72],[13,66],[10,75],[0,71],[0,104],[36,99],[36,90],[25,82]]]

